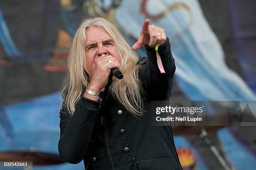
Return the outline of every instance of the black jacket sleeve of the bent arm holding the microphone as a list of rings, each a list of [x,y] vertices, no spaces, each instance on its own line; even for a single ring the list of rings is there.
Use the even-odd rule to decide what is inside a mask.
[[[100,102],[81,95],[74,114],[70,116],[66,107],[60,110],[59,155],[68,163],[77,164],[83,160],[90,143],[92,129]]]

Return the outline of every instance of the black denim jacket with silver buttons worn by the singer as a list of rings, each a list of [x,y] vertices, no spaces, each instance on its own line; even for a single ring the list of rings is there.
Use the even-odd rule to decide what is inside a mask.
[[[147,60],[139,71],[143,83],[146,112],[136,118],[112,96],[106,100],[99,133],[93,149],[89,170],[182,170],[170,126],[151,126],[150,104],[153,100],[169,100],[175,72],[169,40],[158,48],[165,74],[156,62],[156,51],[146,47]],[[68,163],[84,160],[87,164],[88,146],[100,102],[81,95],[74,115],[60,111],[59,155]],[[86,166],[85,166],[86,167]]]

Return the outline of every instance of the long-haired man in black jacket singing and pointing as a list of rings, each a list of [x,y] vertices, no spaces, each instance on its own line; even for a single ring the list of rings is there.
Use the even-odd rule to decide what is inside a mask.
[[[133,50],[145,45],[148,58]],[[165,73],[161,74],[155,46]],[[102,117],[99,95],[112,68],[123,73],[113,78]],[[145,20],[141,36],[131,48],[115,25],[104,18],[89,18],[78,28],[68,60],[68,74],[60,111],[59,154],[68,163],[89,163],[89,170],[179,170],[172,130],[151,126],[152,100],[168,100],[175,72],[165,31]],[[101,119],[95,147],[90,141]],[[92,149],[92,158],[90,150]],[[88,160],[90,158],[90,160]]]

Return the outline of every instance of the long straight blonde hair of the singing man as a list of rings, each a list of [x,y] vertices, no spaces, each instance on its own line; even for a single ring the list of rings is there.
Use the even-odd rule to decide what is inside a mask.
[[[133,115],[143,112],[142,88],[138,79],[138,55],[134,52],[128,41],[118,28],[104,18],[87,18],[83,20],[72,40],[68,57],[68,72],[64,79],[61,94],[63,105],[73,115],[80,95],[90,83],[86,66],[86,31],[92,26],[102,28],[113,38],[118,55],[121,58],[120,71],[123,79],[113,79],[110,92]]]

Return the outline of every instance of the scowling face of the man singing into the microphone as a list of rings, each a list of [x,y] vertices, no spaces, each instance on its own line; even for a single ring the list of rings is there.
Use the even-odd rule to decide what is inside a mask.
[[[105,54],[105,56],[112,55],[116,60],[118,60],[119,63],[121,63],[121,59],[115,48],[113,39],[105,30],[97,26],[92,26],[87,29],[85,52],[87,56],[86,67],[90,73],[90,76],[93,75],[96,61],[101,57],[102,54]]]

